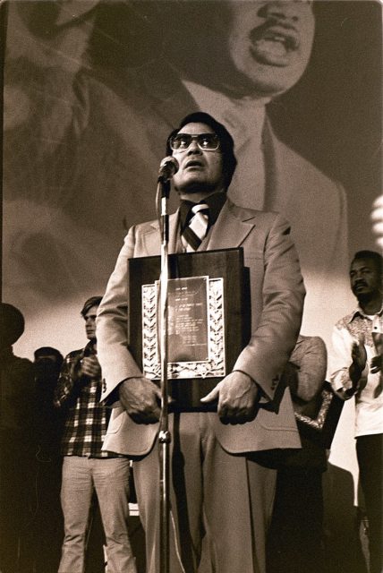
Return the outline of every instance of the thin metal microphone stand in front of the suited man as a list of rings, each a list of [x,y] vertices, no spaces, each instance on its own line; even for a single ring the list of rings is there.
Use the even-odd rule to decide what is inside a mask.
[[[171,434],[168,423],[168,384],[167,384],[167,291],[169,278],[168,244],[169,244],[169,214],[167,202],[170,192],[170,182],[166,176],[160,175],[157,180],[157,213],[161,232],[161,274],[159,278],[160,294],[160,361],[161,361],[161,417],[158,433],[158,456],[160,465],[159,476],[159,535],[160,535],[160,573],[169,571],[169,447]],[[159,200],[161,215],[159,217]]]

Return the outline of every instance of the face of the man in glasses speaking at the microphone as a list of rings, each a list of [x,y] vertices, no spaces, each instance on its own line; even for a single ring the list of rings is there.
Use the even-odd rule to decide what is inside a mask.
[[[214,133],[206,124],[187,124],[178,132],[199,135]],[[179,169],[174,175],[174,188],[183,198],[184,194],[197,192],[223,191],[225,177],[223,174],[222,153],[217,150],[201,150],[194,139],[186,150],[174,150],[174,158],[179,163]]]

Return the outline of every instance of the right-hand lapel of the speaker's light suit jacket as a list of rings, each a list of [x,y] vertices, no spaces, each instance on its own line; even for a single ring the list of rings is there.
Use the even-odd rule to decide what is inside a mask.
[[[253,227],[254,220],[253,217],[249,218],[249,211],[236,207],[227,200],[211,229],[211,235],[202,241],[199,251],[239,247]]]

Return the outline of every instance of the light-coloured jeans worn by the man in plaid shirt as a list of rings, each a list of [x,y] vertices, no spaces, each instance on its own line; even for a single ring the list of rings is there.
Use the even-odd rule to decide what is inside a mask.
[[[93,489],[106,535],[107,572],[136,573],[127,526],[129,471],[127,458],[64,457],[64,543],[58,573],[83,573]]]

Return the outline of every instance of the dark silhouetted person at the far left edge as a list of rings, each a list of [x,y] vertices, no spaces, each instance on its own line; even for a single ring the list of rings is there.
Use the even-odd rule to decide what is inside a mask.
[[[30,531],[35,508],[33,364],[13,355],[24,317],[13,304],[0,303],[0,570],[31,573]]]

